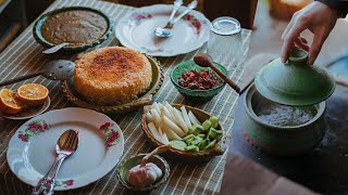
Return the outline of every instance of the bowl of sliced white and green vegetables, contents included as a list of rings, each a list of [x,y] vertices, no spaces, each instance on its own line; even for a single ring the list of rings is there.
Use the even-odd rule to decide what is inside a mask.
[[[153,103],[144,107],[141,127],[156,145],[171,145],[166,153],[188,161],[207,161],[226,150],[226,134],[219,118],[182,104]],[[173,155],[170,155],[173,156]]]

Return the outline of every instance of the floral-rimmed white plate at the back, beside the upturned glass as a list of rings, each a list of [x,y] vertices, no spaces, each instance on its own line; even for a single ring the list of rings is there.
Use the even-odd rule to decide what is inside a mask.
[[[153,30],[165,26],[172,10],[173,5],[156,4],[128,12],[116,25],[121,44],[152,56],[174,56],[197,50],[208,41],[210,22],[197,11],[191,11],[174,25],[172,37],[156,37]]]

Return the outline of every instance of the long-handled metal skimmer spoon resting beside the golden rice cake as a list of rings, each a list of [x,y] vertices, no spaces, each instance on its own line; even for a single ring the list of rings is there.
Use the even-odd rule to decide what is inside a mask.
[[[0,82],[0,88],[3,86],[22,81],[22,80],[34,78],[39,75],[42,75],[45,78],[50,80],[65,80],[74,74],[74,67],[75,67],[75,64],[71,61],[65,61],[65,60],[52,61],[47,65],[47,68],[41,72],[24,75],[17,78],[13,78],[13,79]]]

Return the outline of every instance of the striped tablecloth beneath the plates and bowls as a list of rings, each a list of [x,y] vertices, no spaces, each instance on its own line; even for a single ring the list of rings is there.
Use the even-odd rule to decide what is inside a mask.
[[[57,0],[47,11],[51,11],[62,6],[91,6],[107,13],[115,23],[133,8],[109,3],[96,0]],[[5,80],[21,76],[27,73],[34,73],[45,68],[46,64],[52,60],[66,58],[73,60],[74,54],[63,53],[59,55],[44,55],[44,48],[38,44],[32,35],[33,24],[0,54],[0,80]],[[250,30],[243,30],[238,43],[233,44],[239,52],[235,60],[228,56],[221,57],[219,62],[224,64],[233,80],[240,83],[243,74],[243,63],[248,51]],[[117,40],[111,38],[100,47],[115,46]],[[232,48],[222,48],[222,50],[231,50]],[[176,91],[170,81],[170,72],[178,63],[190,60],[200,51],[206,51],[207,46],[201,49],[178,55],[174,57],[159,57],[164,68],[164,83],[161,90],[154,96],[154,101],[169,101],[170,103],[185,103],[184,98]],[[50,109],[59,109],[72,105],[62,93],[59,81],[50,81],[44,77],[37,77],[16,84],[11,88],[16,89],[23,83],[38,82],[50,89],[51,105]],[[234,121],[234,109],[237,101],[237,94],[226,87],[212,101],[198,107],[216,115],[221,118],[221,122],[227,134],[231,135],[231,129]],[[138,153],[148,153],[153,150],[147,138],[144,135],[140,127],[141,110],[135,110],[126,115],[111,115],[121,127],[125,138],[125,151],[123,158],[127,158]],[[0,194],[28,194],[30,186],[21,182],[9,169],[7,162],[7,150],[11,136],[24,121],[5,120],[0,118]],[[228,139],[229,140],[229,139]],[[217,194],[222,183],[224,173],[225,159],[227,153],[215,157],[211,161],[202,165],[186,165],[176,160],[169,160],[171,166],[171,176],[169,181],[150,192],[151,194]],[[85,187],[67,191],[64,194],[129,194],[121,185],[116,178],[116,169],[112,169],[107,176],[95,183]]]

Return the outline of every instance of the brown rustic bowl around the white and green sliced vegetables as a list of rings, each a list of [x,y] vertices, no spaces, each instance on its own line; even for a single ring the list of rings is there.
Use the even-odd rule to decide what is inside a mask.
[[[200,120],[200,121],[204,121],[207,119],[209,119],[211,117],[211,115],[202,109],[199,109],[197,107],[191,107],[191,106],[187,106],[187,105],[182,105],[182,104],[171,104],[173,107],[175,108],[181,108],[182,106],[185,106],[187,112],[192,112],[192,114]],[[148,128],[147,125],[147,120],[146,120],[146,112],[148,112],[148,108],[150,106],[145,106],[144,107],[144,112],[145,114],[142,115],[142,119],[141,119],[141,128],[142,131],[145,132],[146,136],[157,146],[163,145],[161,142],[159,142],[158,140],[156,140],[151,133],[151,131]],[[226,151],[226,136],[227,134],[225,133],[225,131],[223,130],[221,123],[219,123],[217,128],[223,131],[223,135],[222,138],[219,140],[219,142],[216,143],[216,145],[210,150],[206,150],[206,151],[200,151],[200,152],[186,152],[186,151],[179,151],[173,147],[170,147],[167,150],[167,152],[165,153],[170,153],[170,157],[173,157],[173,159],[177,159],[176,157],[178,157],[179,159],[183,159],[185,161],[188,162],[203,162],[203,161],[209,161],[210,159],[214,158],[215,156],[222,155],[225,151]],[[164,154],[165,154],[164,153]]]

